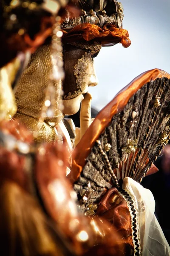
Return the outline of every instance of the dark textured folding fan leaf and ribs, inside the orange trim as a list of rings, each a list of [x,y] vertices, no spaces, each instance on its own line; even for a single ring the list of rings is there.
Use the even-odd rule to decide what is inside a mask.
[[[121,186],[125,177],[141,182],[170,138],[170,76],[164,72],[164,77],[142,84],[143,76],[135,81],[141,84],[135,85],[135,93],[129,93],[130,86],[125,88],[130,95],[127,104],[117,108],[99,133],[74,183],[82,209],[99,201],[105,188]]]

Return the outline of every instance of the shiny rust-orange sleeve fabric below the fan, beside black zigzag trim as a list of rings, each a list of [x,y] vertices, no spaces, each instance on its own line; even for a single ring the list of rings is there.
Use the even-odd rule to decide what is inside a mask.
[[[111,222],[126,248],[124,255],[130,256],[133,250],[131,218],[127,204],[116,188],[109,189],[102,197],[97,215]]]

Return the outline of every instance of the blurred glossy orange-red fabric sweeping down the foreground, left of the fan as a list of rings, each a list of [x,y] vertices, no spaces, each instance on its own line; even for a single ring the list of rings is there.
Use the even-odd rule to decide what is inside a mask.
[[[102,218],[79,212],[71,197],[71,184],[65,178],[66,151],[65,145],[48,143],[45,153],[36,155],[34,175],[45,210],[54,220],[54,228],[62,232],[74,255],[124,256],[126,247],[114,226]],[[61,160],[64,166],[59,165]],[[81,231],[88,236],[87,240],[79,239]]]

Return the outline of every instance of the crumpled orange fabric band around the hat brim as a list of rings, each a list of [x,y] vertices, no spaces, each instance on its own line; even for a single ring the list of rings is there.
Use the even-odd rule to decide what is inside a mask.
[[[118,29],[111,24],[106,24],[103,28],[100,28],[99,26],[90,23],[82,23],[75,26],[69,32],[66,32],[65,30],[62,30],[62,32],[62,41],[66,41],[66,43],[84,39],[85,41],[101,41],[102,44],[121,43],[125,48],[129,47],[131,44],[127,30]]]

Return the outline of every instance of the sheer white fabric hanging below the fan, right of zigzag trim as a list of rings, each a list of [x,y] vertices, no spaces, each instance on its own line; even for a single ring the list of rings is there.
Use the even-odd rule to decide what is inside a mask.
[[[155,200],[152,192],[129,177],[123,180],[122,188],[132,194],[133,200],[136,201],[142,255],[169,256],[170,246],[154,214]]]

